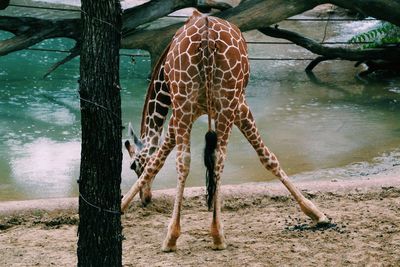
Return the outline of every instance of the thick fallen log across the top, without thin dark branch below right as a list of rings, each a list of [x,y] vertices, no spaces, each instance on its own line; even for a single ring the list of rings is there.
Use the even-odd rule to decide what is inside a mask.
[[[125,10],[122,47],[148,50],[152,55],[152,60],[156,60],[182,23],[151,30],[138,27],[181,8],[199,7],[198,2],[195,0],[152,0]],[[207,7],[228,8],[224,4],[211,0],[202,2]],[[238,6],[219,12],[215,16],[233,22],[242,31],[248,31],[268,27],[324,3],[357,10],[365,15],[384,19],[400,26],[399,0],[245,0]],[[0,41],[1,56],[25,49],[48,38],[69,37],[79,43],[80,20],[54,21],[0,16],[0,30],[16,34],[15,37]]]

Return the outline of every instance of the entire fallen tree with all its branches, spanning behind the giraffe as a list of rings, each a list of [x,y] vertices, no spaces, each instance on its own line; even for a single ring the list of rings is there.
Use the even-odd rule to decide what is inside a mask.
[[[182,22],[158,28],[147,28],[146,25],[165,17],[176,10],[195,7],[200,9],[217,8],[221,11],[213,15],[224,18],[236,24],[242,31],[259,29],[279,38],[292,39],[298,45],[309,49],[313,53],[321,55],[312,62],[308,70],[311,70],[319,62],[333,58],[345,60],[373,60],[398,58],[397,49],[375,49],[369,51],[349,50],[341,47],[324,47],[306,37],[296,36],[296,33],[268,28],[288,17],[301,14],[320,4],[331,3],[347,9],[356,10],[367,16],[384,19],[396,25],[400,25],[400,1],[398,0],[244,0],[235,7],[226,3],[211,0],[152,0],[142,5],[126,9],[123,14],[122,42],[125,49],[143,49],[150,52],[152,63],[169,43]],[[100,22],[106,23],[106,22]],[[11,52],[26,49],[45,39],[67,37],[74,39],[76,45],[71,49],[71,54],[62,61],[56,63],[50,71],[68,62],[80,50],[80,19],[39,19],[28,17],[0,16],[0,30],[12,32],[15,36],[0,41],[0,56]],[[278,31],[279,30],[279,31]]]

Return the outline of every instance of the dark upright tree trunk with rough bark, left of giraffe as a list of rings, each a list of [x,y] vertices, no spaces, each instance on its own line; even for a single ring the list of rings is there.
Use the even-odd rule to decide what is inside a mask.
[[[119,0],[82,0],[78,266],[121,266]]]

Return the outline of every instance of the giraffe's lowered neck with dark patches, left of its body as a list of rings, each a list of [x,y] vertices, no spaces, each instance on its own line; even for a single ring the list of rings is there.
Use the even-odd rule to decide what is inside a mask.
[[[154,68],[143,107],[140,137],[144,143],[143,152],[149,156],[158,149],[163,125],[171,105],[169,88],[164,79],[164,62],[168,49],[169,46]]]

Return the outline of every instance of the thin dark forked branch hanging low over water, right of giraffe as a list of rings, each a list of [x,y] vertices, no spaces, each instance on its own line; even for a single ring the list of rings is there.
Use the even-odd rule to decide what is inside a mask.
[[[310,38],[288,30],[265,27],[260,28],[259,31],[271,37],[289,40],[301,47],[306,48],[314,54],[322,56],[313,61],[306,68],[306,70],[312,70],[319,62],[329,59],[345,59],[350,61],[381,59],[394,62],[400,61],[400,49],[397,47],[366,50],[350,49],[344,47],[328,47],[321,45],[317,41],[314,41]]]

